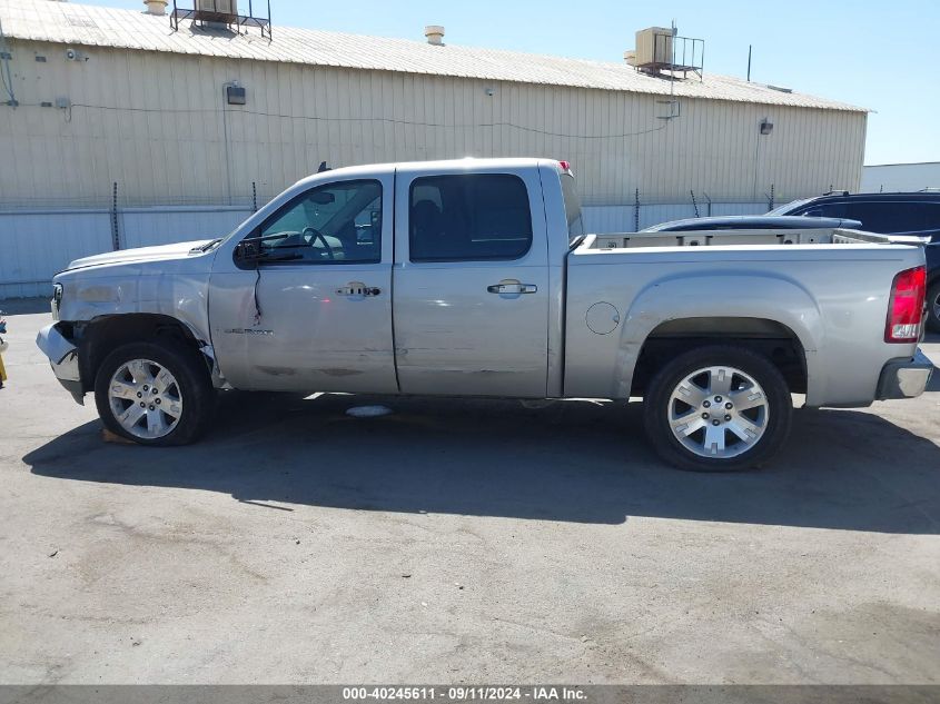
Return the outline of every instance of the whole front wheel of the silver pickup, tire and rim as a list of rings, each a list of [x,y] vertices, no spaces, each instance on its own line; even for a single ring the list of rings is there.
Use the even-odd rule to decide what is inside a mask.
[[[214,401],[205,363],[184,345],[123,345],[95,377],[105,426],[141,445],[191,443],[206,429]]]

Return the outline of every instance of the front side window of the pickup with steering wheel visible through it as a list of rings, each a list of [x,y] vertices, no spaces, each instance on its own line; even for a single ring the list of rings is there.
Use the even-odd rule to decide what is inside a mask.
[[[250,237],[263,256],[301,264],[382,261],[382,184],[339,181],[298,196]]]

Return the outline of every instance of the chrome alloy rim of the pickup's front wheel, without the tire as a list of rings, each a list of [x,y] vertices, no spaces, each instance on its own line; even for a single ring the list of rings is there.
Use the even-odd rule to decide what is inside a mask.
[[[108,386],[108,401],[120,426],[142,439],[169,435],[182,416],[176,377],[150,359],[132,359],[118,367]]]

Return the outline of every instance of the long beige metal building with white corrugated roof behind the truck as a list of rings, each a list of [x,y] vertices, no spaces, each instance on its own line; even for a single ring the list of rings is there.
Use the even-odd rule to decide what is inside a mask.
[[[85,251],[219,234],[321,161],[566,159],[587,225],[605,230],[760,212],[861,175],[865,110],[708,71],[671,81],[307,29],[174,31],[50,0],[0,0],[0,297],[41,290]],[[229,103],[236,86],[245,105]]]

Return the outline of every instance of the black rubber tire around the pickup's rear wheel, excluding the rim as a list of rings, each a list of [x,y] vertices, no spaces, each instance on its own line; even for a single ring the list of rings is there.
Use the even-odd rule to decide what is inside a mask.
[[[711,366],[740,369],[763,388],[766,398],[768,422],[763,435],[752,447],[733,457],[695,454],[680,443],[669,423],[673,390],[689,375]],[[786,381],[766,357],[740,347],[715,345],[697,347],[665,364],[646,389],[643,416],[650,442],[671,465],[692,472],[740,472],[760,466],[780,450],[790,434],[793,401]]]

